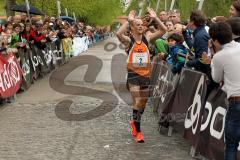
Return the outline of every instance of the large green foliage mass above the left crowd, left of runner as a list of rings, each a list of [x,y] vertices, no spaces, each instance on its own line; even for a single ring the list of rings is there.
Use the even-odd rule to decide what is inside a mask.
[[[29,1],[47,15],[57,15],[56,0]],[[24,0],[17,2],[23,3]],[[111,24],[117,16],[123,14],[120,0],[61,0],[61,15],[65,15],[65,8],[68,9],[69,16],[75,12],[78,19],[95,25]]]

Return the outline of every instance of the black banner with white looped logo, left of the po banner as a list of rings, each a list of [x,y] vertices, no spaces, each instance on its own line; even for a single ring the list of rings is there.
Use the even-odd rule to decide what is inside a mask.
[[[204,74],[185,68],[182,70],[171,112],[174,121],[184,125],[184,137],[195,147],[199,140],[206,89]]]

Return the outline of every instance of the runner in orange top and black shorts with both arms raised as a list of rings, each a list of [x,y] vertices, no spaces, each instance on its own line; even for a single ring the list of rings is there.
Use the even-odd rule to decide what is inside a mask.
[[[136,17],[136,12],[131,11],[128,21],[118,30],[117,37],[127,48],[128,60],[128,85],[133,98],[133,120],[130,122],[132,135],[136,142],[143,143],[144,138],[140,128],[141,116],[144,112],[148,97],[151,72],[151,60],[148,49],[150,41],[162,37],[166,32],[165,25],[157,17],[153,9],[148,8],[150,18],[158,24],[156,32],[144,33],[143,21]],[[130,26],[130,36],[125,32]]]

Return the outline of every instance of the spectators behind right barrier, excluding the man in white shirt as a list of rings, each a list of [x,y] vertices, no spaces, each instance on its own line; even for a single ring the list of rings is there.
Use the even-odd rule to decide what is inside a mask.
[[[180,73],[181,68],[186,66],[211,77],[209,58],[212,57],[212,48],[209,48],[211,45],[209,27],[212,23],[226,21],[232,26],[235,41],[239,42],[239,13],[240,2],[236,0],[230,7],[229,18],[224,16],[207,18],[201,11],[192,11],[189,22],[186,23],[181,21],[180,11],[176,9],[169,12],[161,11],[159,18],[166,25],[167,32],[151,42],[151,46],[154,46],[154,49],[150,50],[152,58],[158,56],[159,59],[166,61],[172,66],[173,73]],[[143,22],[146,33],[154,32],[158,27],[148,18],[148,13],[143,17]],[[177,54],[178,52],[180,54]]]

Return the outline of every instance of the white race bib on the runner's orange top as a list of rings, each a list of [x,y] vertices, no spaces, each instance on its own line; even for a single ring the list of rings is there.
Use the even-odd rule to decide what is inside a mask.
[[[148,54],[147,53],[133,53],[132,64],[134,67],[147,67]]]

